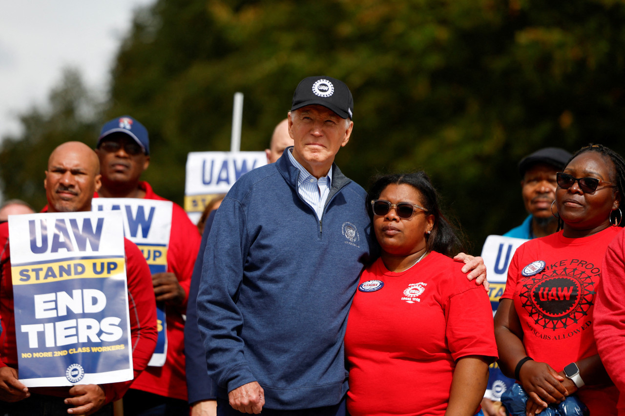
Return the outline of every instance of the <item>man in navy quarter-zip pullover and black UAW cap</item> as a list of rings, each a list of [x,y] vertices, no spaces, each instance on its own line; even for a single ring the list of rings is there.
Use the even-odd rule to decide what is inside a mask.
[[[345,414],[347,312],[377,251],[366,192],[334,164],[353,111],[338,79],[301,81],[294,146],[235,182],[215,214],[197,322],[217,415]]]

